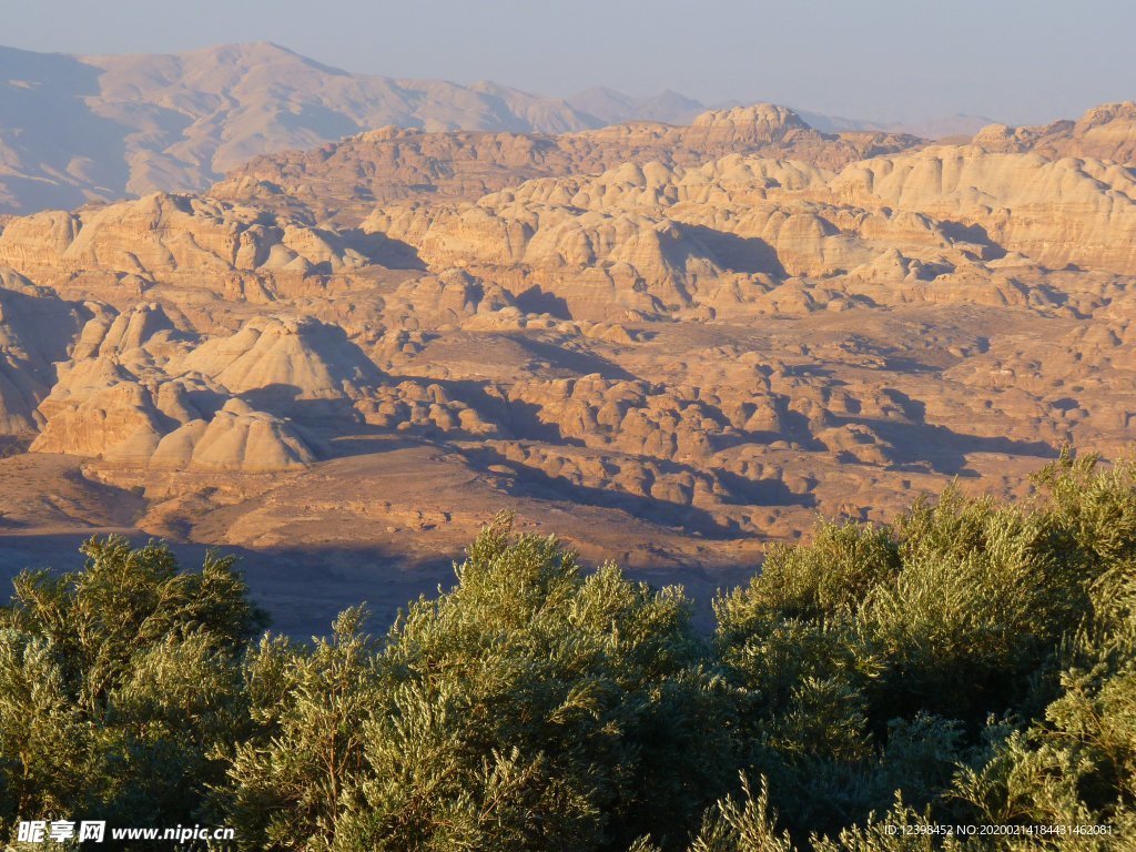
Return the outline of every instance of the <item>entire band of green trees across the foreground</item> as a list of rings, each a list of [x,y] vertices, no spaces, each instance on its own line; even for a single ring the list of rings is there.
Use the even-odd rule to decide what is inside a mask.
[[[1116,849],[1136,838],[1136,469],[947,490],[680,588],[502,517],[382,636],[262,634],[231,561],[92,540],[0,609],[0,842],[23,817],[243,849]],[[945,837],[927,826],[1111,836]],[[1126,840],[1127,838],[1127,840]]]

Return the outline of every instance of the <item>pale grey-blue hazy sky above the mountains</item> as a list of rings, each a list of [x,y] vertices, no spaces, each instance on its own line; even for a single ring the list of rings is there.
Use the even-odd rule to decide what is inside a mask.
[[[0,44],[28,50],[274,41],[353,72],[905,120],[1134,99],[1134,34],[1131,0],[0,0]]]

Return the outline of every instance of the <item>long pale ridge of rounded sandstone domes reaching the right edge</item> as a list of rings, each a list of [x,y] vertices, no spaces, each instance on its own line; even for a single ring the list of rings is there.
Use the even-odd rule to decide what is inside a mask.
[[[1010,266],[1136,272],[1136,182],[1103,160],[939,147],[838,174],[732,156],[541,178],[473,204],[393,206],[362,225],[432,269],[560,299],[602,318],[758,302],[794,276],[995,282]],[[724,290],[725,287],[725,290]],[[943,287],[946,290],[946,287]],[[749,295],[745,293],[749,292]]]

